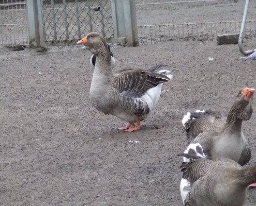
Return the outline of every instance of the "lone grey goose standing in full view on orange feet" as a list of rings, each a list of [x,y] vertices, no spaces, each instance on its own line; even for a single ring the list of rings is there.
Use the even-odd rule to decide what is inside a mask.
[[[170,71],[127,70],[114,75],[108,45],[99,33],[88,33],[77,44],[84,44],[96,56],[89,95],[93,106],[129,123],[118,130],[139,130],[140,122],[156,107],[162,83],[172,79]]]

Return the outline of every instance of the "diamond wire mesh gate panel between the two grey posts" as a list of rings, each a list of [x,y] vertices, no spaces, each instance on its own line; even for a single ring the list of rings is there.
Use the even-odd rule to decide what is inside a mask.
[[[43,1],[44,41],[73,41],[91,31],[113,38],[110,1]]]

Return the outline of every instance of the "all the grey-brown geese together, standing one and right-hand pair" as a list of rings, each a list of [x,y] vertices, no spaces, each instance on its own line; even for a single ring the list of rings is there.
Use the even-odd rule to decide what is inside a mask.
[[[126,132],[139,130],[141,121],[154,112],[162,84],[172,79],[169,70],[123,70],[114,74],[113,53],[97,32],[77,42],[92,53],[94,74],[89,92],[93,107],[112,114],[128,125],[118,128]],[[243,167],[250,161],[251,151],[242,132],[242,124],[252,115],[252,88],[238,91],[228,115],[219,111],[195,111],[182,119],[189,145],[178,154],[183,156],[180,194],[184,205],[240,206],[249,186],[256,186],[256,165]]]

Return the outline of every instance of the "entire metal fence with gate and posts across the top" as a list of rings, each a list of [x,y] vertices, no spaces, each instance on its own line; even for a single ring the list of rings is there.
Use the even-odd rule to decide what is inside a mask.
[[[239,33],[245,1],[0,0],[0,43],[30,45],[40,36],[34,41],[40,45],[73,44],[91,31],[112,42],[133,41],[131,46],[216,40]],[[255,8],[256,1],[250,1],[244,38],[256,38]]]

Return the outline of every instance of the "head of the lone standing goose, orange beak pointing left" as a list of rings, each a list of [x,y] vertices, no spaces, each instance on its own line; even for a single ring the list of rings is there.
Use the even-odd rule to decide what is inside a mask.
[[[90,50],[94,55],[98,55],[99,53],[109,53],[107,42],[97,32],[88,33],[88,35],[78,41],[77,44],[83,44],[86,49]]]

